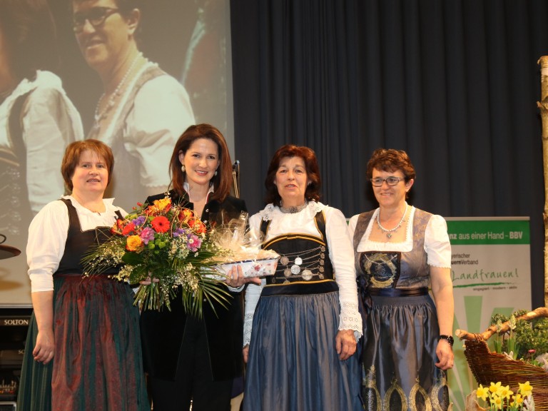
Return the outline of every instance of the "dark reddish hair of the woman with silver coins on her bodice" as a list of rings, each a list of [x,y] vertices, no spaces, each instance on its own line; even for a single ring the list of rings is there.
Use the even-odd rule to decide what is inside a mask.
[[[280,161],[285,157],[300,157],[305,162],[306,175],[310,185],[306,187],[305,198],[306,200],[318,201],[320,199],[320,187],[322,181],[320,178],[320,167],[318,167],[318,159],[316,153],[312,148],[305,146],[295,146],[293,144],[286,144],[278,148],[278,151],[274,153],[272,160],[270,160],[270,166],[266,173],[265,187],[266,196],[265,202],[274,203],[280,206],[282,198],[278,193],[278,187],[275,186],[274,180],[276,178],[276,172],[280,167]]]

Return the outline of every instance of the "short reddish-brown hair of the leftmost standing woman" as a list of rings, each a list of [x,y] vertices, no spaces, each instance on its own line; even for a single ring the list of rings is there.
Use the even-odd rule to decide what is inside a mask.
[[[102,141],[90,138],[89,140],[73,141],[66,146],[63,163],[61,163],[61,175],[64,178],[68,190],[72,191],[72,176],[74,175],[74,170],[76,169],[76,166],[78,166],[78,162],[84,151],[96,153],[99,158],[102,158],[105,161],[106,168],[108,168],[108,186],[108,184],[111,183],[112,169],[114,168],[112,150]]]

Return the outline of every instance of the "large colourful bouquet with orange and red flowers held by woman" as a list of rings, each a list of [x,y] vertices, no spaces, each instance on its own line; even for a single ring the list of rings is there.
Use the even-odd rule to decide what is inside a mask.
[[[84,275],[103,273],[119,266],[120,281],[139,284],[135,304],[143,309],[171,310],[170,300],[181,288],[183,306],[202,315],[202,302],[213,310],[217,301],[225,306],[228,292],[214,258],[227,253],[210,240],[204,223],[188,208],[173,205],[166,197],[133,208],[117,220],[111,237],[93,248],[83,260]],[[140,284],[144,281],[145,284]]]

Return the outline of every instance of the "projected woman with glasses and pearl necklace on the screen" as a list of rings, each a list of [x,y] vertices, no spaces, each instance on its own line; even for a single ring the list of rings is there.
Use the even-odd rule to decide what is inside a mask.
[[[183,86],[139,51],[140,19],[135,0],[73,1],[78,46],[103,82],[88,138],[112,147],[118,180],[108,195],[126,208],[166,190],[173,146],[194,123]]]

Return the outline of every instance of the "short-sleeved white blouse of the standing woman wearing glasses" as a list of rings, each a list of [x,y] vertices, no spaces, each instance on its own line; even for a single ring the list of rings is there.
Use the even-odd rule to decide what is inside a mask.
[[[369,250],[401,251],[402,253],[410,252],[413,249],[413,218],[415,217],[415,210],[415,207],[411,207],[409,223],[407,224],[407,231],[405,233],[405,241],[394,243],[390,241],[371,241],[369,239],[372,226],[379,213],[379,208],[377,208],[372,215],[369,225],[367,225],[367,230],[365,230],[360,243],[357,245],[358,253]],[[352,216],[348,223],[348,231],[350,233],[350,238],[352,238],[352,242],[358,216],[359,214]],[[425,251],[427,253],[428,265],[451,268],[451,243],[449,235],[447,235],[447,223],[441,215],[433,214],[426,225]]]

